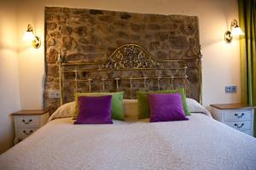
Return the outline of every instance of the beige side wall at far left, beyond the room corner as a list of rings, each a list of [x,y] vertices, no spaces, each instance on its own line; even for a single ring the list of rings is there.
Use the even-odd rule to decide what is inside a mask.
[[[0,1],[0,154],[13,144],[9,115],[20,109],[15,6],[15,1]]]

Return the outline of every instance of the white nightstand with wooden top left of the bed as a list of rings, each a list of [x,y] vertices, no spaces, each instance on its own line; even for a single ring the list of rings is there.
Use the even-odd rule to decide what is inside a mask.
[[[15,141],[17,144],[42,127],[49,118],[48,110],[21,110],[12,114],[15,119]]]

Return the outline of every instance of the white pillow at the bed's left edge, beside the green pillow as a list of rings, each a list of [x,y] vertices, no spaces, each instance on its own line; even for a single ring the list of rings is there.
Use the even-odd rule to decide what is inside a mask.
[[[65,117],[72,117],[73,111],[75,108],[75,102],[70,102],[64,105],[61,105],[50,117],[49,121],[57,119],[57,118],[65,118]]]

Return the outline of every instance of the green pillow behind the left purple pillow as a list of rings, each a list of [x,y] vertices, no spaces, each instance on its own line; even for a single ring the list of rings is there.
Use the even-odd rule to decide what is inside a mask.
[[[111,99],[111,118],[124,121],[123,115],[123,94],[124,92],[116,93],[77,93],[75,94],[75,110],[73,112],[73,118],[76,119],[79,115],[79,96],[99,96],[99,95],[112,95]]]

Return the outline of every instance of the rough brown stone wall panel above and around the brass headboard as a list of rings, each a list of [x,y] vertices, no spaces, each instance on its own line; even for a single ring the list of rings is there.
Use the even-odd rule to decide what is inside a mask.
[[[59,99],[50,99],[48,95],[50,89],[59,89],[59,49],[67,62],[95,62],[106,59],[125,43],[139,44],[158,59],[195,59],[200,49],[198,19],[46,7],[44,107],[59,105]],[[189,73],[189,82],[198,89],[197,76],[197,71]],[[72,89],[66,89],[73,93]]]

